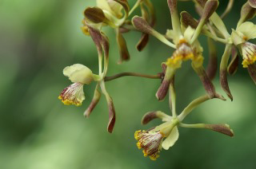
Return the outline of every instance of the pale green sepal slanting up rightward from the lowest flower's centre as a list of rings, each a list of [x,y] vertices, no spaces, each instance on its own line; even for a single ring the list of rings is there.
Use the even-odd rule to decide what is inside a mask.
[[[178,116],[179,121],[184,120],[184,118],[189,115],[194,108],[196,108],[199,104],[202,104],[206,100],[210,100],[208,95],[200,96],[197,99],[193,100],[188,106],[186,106],[186,108],[184,108],[182,113]]]

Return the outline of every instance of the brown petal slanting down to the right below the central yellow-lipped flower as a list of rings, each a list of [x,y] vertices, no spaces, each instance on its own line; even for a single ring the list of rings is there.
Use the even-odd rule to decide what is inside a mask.
[[[205,69],[201,67],[195,67],[192,64],[194,71],[198,74],[198,77],[202,81],[203,87],[206,89],[207,95],[210,99],[214,98],[215,96],[215,88],[213,83],[210,81],[210,78],[207,76]]]

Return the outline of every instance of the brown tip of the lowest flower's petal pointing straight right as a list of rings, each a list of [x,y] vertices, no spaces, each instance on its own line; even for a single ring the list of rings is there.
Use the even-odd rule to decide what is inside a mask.
[[[234,132],[232,129],[230,129],[230,126],[228,124],[205,124],[205,127],[212,131],[220,132],[226,136],[234,136]]]

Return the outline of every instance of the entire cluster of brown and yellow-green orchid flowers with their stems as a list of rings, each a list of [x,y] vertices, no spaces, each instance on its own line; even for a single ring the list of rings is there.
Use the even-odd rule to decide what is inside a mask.
[[[162,148],[168,150],[178,140],[178,128],[205,128],[214,132],[220,132],[227,136],[234,136],[234,132],[228,124],[184,124],[186,119],[194,108],[198,107],[206,100],[212,99],[226,100],[216,92],[212,80],[218,71],[218,60],[221,61],[219,66],[219,81],[224,92],[233,100],[228,85],[228,73],[234,75],[239,65],[239,56],[242,56],[242,67],[248,69],[250,77],[256,84],[256,45],[249,40],[256,38],[256,25],[248,20],[256,15],[256,2],[248,1],[241,9],[241,16],[235,29],[230,31],[226,29],[222,18],[226,17],[232,10],[234,0],[230,0],[226,10],[221,17],[216,13],[219,2],[218,0],[191,0],[194,2],[195,10],[198,12],[200,19],[197,20],[188,12],[182,11],[178,14],[178,1],[167,0],[166,6],[170,9],[170,22],[172,29],[167,29],[166,34],[159,33],[154,29],[155,14],[154,5],[150,0],[138,0],[130,8],[126,0],[97,0],[97,6],[87,7],[84,11],[82,20],[82,32],[90,36],[98,50],[98,74],[81,64],[67,66],[63,74],[69,77],[74,84],[65,88],[59,99],[63,104],[82,105],[85,100],[83,86],[89,85],[92,81],[97,83],[94,90],[94,97],[90,106],[86,109],[84,115],[88,118],[98,104],[101,93],[106,97],[106,103],[109,109],[108,132],[113,132],[115,123],[114,102],[106,90],[106,82],[114,81],[120,77],[132,76],[156,79],[161,81],[161,85],[156,92],[159,101],[164,100],[169,92],[169,106],[171,116],[164,112],[153,111],[147,112],[142,117],[142,124],[148,124],[151,120],[161,119],[162,124],[150,128],[149,130],[138,130],[134,137],[138,140],[137,146],[143,149],[143,154],[155,160],[159,157]],[[132,16],[134,10],[141,10],[141,16]],[[158,9],[157,9],[158,10]],[[131,18],[131,20],[130,20]],[[142,73],[117,73],[112,77],[106,77],[109,69],[109,50],[110,44],[108,37],[102,32],[102,27],[110,26],[116,33],[116,40],[120,54],[118,64],[130,60],[130,53],[126,47],[126,40],[123,33],[130,31],[139,31],[142,36],[137,44],[138,51],[146,47],[150,36],[156,37],[164,45],[168,45],[174,52],[170,57],[161,64],[162,73],[154,75]],[[200,36],[206,36],[209,50],[209,62],[207,68],[203,67],[204,57],[202,56],[202,45],[198,40]],[[226,46],[222,57],[218,58],[217,49],[214,41],[221,42]],[[231,59],[230,59],[231,56]],[[230,61],[229,61],[230,60]],[[174,76],[179,69],[182,69],[182,63],[191,61],[191,67],[198,75],[206,94],[192,100],[182,112],[176,111],[176,92]],[[101,90],[101,92],[100,92]]]

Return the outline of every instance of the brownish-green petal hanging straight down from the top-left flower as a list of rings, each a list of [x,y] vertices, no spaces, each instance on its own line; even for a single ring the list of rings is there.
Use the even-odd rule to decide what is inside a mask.
[[[128,52],[126,46],[126,40],[122,37],[122,33],[119,32],[119,29],[117,29],[117,43],[120,54],[120,60],[118,61],[118,64],[121,64],[122,61],[129,61],[130,53]]]

